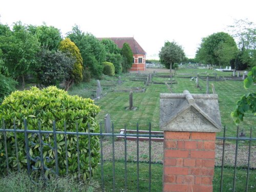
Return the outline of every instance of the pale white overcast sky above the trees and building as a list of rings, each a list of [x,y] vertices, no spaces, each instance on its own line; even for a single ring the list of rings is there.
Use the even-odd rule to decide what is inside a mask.
[[[78,25],[95,37],[134,37],[147,59],[175,40],[194,58],[203,37],[228,32],[237,19],[256,24],[255,0],[2,0],[0,23],[54,26],[63,37]]]

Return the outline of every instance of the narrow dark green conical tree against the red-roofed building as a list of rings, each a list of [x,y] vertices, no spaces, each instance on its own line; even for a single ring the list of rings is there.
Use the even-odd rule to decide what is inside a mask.
[[[126,73],[129,69],[131,69],[133,65],[133,52],[129,44],[125,42],[121,49],[121,55],[124,57],[122,62],[123,72]]]

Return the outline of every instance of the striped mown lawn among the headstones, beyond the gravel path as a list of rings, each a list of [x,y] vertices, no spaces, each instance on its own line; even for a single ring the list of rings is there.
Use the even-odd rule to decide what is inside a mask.
[[[157,70],[157,69],[154,69]],[[196,77],[197,74],[201,76],[215,77],[219,76],[230,77],[232,72],[219,72],[208,69],[179,69],[176,71],[176,76],[173,78],[178,83],[172,85],[173,93],[182,93],[183,90],[188,90],[193,94],[206,93],[206,80],[200,79],[199,85],[201,90],[196,87],[195,81],[191,81],[190,78],[182,77]],[[143,76],[144,75],[144,76]],[[153,77],[155,82],[166,82],[168,78],[161,77],[161,75],[169,75],[169,73],[157,73]],[[99,122],[103,122],[104,116],[109,113],[111,120],[114,123],[115,132],[126,125],[127,129],[136,129],[136,123],[139,123],[140,130],[148,130],[148,124],[151,122],[152,130],[159,130],[159,98],[160,93],[169,93],[169,90],[165,84],[153,84],[150,83],[146,86],[143,81],[132,81],[137,77],[146,77],[145,74],[128,73],[122,74],[121,80],[123,83],[118,85],[118,77],[104,76],[101,82],[103,93],[106,95],[95,100],[95,103],[100,106],[101,111],[97,118]],[[230,117],[230,113],[233,111],[237,100],[249,91],[256,91],[256,87],[252,86],[248,91],[243,88],[243,81],[209,81],[209,84],[213,83],[215,90],[219,96],[219,108],[221,114],[222,125],[227,127],[227,136],[236,136],[236,124]],[[77,94],[83,97],[89,97],[96,92],[97,82],[92,80],[88,83],[80,83],[78,86],[74,86],[69,93]],[[210,86],[209,86],[210,87]],[[129,106],[129,91],[134,88],[145,88],[144,93],[133,93],[133,105],[137,107],[136,111],[125,110]],[[118,90],[126,90],[127,92],[118,92]],[[212,93],[211,88],[209,88]],[[245,130],[246,135],[249,135],[249,129],[255,126],[256,116],[251,113],[247,113],[244,118],[244,122],[241,123],[241,128]],[[253,127],[254,128],[254,127]],[[223,133],[218,133],[218,136],[222,136]],[[256,132],[253,133],[253,137],[256,137]]]

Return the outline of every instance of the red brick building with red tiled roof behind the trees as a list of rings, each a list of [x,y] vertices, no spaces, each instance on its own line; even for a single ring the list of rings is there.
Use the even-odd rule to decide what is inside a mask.
[[[103,38],[98,39],[101,40]],[[120,49],[122,49],[125,42],[130,45],[133,52],[133,66],[131,71],[146,70],[146,52],[133,37],[108,37],[108,39],[113,40]]]

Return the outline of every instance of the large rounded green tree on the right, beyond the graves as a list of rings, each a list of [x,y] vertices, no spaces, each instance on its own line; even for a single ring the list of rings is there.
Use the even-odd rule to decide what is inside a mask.
[[[212,65],[229,65],[236,58],[238,48],[233,37],[224,32],[214,33],[202,39],[197,59]]]

